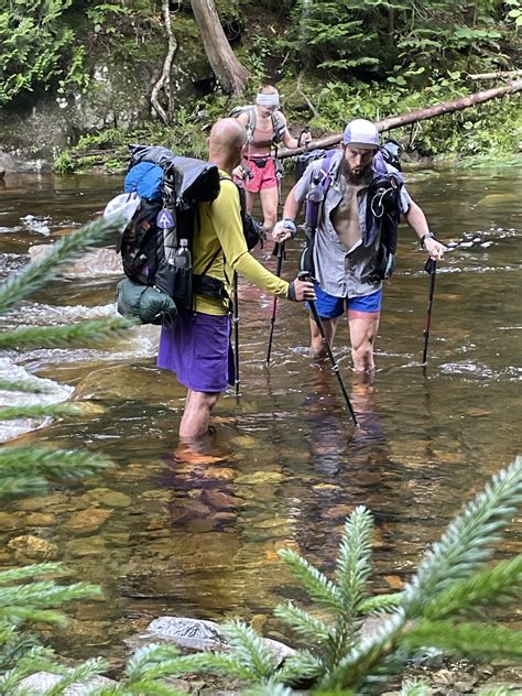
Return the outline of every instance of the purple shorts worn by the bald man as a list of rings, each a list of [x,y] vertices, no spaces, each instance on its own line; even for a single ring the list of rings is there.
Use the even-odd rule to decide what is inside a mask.
[[[175,372],[187,389],[225,391],[235,380],[230,317],[181,308],[162,327],[157,367]]]

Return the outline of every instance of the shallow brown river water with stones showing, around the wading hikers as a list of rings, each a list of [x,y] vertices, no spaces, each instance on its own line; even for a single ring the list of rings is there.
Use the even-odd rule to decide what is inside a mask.
[[[211,447],[198,458],[177,448],[184,391],[155,369],[154,331],[106,350],[15,358],[29,371],[77,388],[94,404],[77,421],[22,439],[87,446],[116,461],[96,480],[3,504],[6,544],[25,534],[45,539],[75,578],[104,587],[102,601],[73,607],[76,621],[56,639],[62,650],[113,654],[123,637],[162,613],[217,620],[263,615],[264,630],[276,630],[271,609],[295,595],[278,550],[291,546],[330,569],[356,504],[369,507],[376,519],[374,588],[395,589],[463,501],[520,453],[520,170],[407,180],[434,231],[461,243],[439,264],[426,374],[418,362],[428,279],[425,255],[406,229],[385,291],[379,371],[370,383],[354,380],[347,330],[339,327],[335,352],[358,429],[329,368],[307,358],[302,307],[279,304],[265,369],[272,301],[247,284],[241,399],[221,400]],[[3,264],[17,268],[30,244],[90,219],[120,182],[8,177],[7,184],[0,192],[0,251],[10,254]],[[41,227],[21,220],[28,215]],[[273,268],[268,251],[260,257]],[[296,247],[289,250],[286,278],[297,258]],[[110,314],[116,280],[56,281],[11,320],[53,324]],[[521,551],[519,518],[502,553]],[[4,565],[23,561],[11,547],[0,553]],[[510,621],[520,624],[520,610]]]

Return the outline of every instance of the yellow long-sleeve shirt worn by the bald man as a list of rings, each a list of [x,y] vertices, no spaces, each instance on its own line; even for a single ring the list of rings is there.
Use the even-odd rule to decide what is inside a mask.
[[[236,184],[220,172],[221,188],[211,203],[199,204],[199,220],[196,219],[193,243],[193,271],[211,275],[225,283],[231,293],[233,271],[251,281],[258,287],[280,297],[289,296],[289,283],[265,269],[248,251],[242,232],[239,193]],[[198,216],[196,216],[197,218]],[[208,263],[214,259],[211,265]],[[196,311],[205,314],[224,315],[227,303],[218,297],[196,295]]]

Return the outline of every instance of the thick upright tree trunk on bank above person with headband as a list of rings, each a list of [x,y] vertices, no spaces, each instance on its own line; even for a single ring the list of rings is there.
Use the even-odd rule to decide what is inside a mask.
[[[228,43],[214,0],[191,0],[191,4],[216,79],[227,94],[242,94],[250,75]]]

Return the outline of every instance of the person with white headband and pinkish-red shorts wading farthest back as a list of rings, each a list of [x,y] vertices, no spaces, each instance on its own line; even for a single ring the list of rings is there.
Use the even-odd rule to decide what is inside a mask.
[[[305,133],[300,143],[293,138],[286,124],[286,118],[279,110],[279,93],[272,85],[264,85],[255,97],[255,105],[240,107],[232,111],[247,129],[247,146],[243,161],[233,174],[243,181],[247,192],[247,209],[252,211],[254,195],[259,194],[263,210],[263,227],[271,231],[278,220],[279,171],[274,145],[283,143],[286,148],[297,148],[312,140]]]

